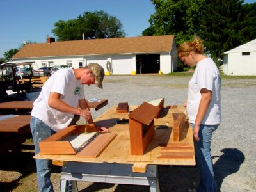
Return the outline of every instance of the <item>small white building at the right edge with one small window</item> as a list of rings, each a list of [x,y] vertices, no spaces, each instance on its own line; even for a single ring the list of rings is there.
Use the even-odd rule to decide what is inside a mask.
[[[224,52],[223,73],[232,76],[256,76],[256,39]]]

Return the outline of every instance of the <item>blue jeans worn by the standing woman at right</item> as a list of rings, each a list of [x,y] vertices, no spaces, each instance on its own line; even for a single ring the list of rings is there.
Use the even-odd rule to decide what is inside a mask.
[[[198,160],[198,165],[200,169],[200,184],[196,191],[216,191],[217,184],[214,179],[214,171],[211,158],[211,140],[212,132],[214,132],[219,125],[200,125],[200,130],[198,136],[199,141],[194,138],[195,154]],[[191,124],[192,129],[194,129],[195,124]]]

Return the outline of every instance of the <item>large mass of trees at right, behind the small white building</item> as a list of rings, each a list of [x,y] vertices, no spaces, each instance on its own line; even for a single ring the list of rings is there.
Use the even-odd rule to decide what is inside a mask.
[[[205,52],[222,58],[223,52],[256,38],[256,3],[237,0],[152,0],[155,13],[143,36],[175,35],[175,42],[204,40]]]

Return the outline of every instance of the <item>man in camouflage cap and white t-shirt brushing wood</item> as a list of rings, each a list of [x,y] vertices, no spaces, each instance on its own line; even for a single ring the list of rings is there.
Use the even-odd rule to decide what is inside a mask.
[[[42,87],[31,111],[30,127],[35,154],[40,153],[39,142],[70,125],[74,115],[82,116],[89,124],[94,124],[84,97],[83,85],[96,84],[102,88],[103,79],[104,69],[97,63],[78,69],[64,68],[52,74]],[[105,127],[97,129],[108,131]],[[51,161],[36,159],[36,169],[40,191],[53,191],[50,180]]]

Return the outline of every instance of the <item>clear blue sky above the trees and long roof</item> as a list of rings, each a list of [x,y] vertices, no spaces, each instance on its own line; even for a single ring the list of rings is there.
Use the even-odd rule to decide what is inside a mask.
[[[0,58],[3,52],[20,47],[24,41],[45,42],[47,35],[53,36],[55,22],[96,10],[119,19],[127,36],[139,36],[150,26],[148,19],[154,6],[150,0],[1,0]]]

